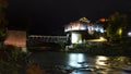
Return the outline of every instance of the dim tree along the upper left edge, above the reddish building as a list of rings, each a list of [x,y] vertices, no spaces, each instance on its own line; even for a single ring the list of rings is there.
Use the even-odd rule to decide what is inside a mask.
[[[5,36],[5,25],[8,24],[5,21],[4,9],[8,7],[8,2],[0,0],[0,41],[4,39]]]

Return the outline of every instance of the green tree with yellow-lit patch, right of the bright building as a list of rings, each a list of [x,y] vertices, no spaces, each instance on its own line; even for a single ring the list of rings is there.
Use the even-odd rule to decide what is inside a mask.
[[[120,39],[127,26],[127,15],[116,12],[108,17],[107,37]]]

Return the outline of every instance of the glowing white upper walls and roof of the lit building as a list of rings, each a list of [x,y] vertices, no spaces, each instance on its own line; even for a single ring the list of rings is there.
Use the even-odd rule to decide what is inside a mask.
[[[85,17],[81,18],[80,21],[86,21]],[[70,32],[70,30],[88,30],[88,33],[92,35],[94,34],[94,30],[104,33],[104,27],[100,25],[96,24],[90,24],[90,23],[82,23],[80,21],[70,23],[64,27],[64,32]],[[87,20],[88,21],[88,20]]]

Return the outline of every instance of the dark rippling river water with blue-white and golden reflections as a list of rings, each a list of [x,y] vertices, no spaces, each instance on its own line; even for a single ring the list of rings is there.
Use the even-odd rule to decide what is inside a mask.
[[[41,51],[33,52],[29,60],[44,67],[58,65],[75,69],[71,74],[131,74],[129,57],[92,57],[87,53]]]

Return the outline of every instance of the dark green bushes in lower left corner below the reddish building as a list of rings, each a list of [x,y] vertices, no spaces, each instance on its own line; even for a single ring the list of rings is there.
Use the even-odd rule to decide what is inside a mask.
[[[14,46],[0,48],[0,74],[19,74],[24,64],[21,51]]]

